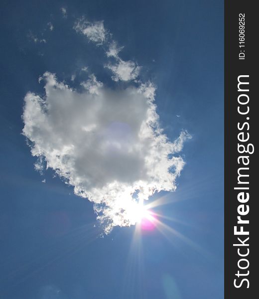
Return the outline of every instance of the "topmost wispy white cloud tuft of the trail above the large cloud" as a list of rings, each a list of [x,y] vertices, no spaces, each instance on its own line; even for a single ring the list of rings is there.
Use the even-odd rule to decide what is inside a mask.
[[[81,18],[75,23],[74,29],[86,35],[91,41],[96,42],[98,45],[103,44],[106,39],[107,32],[104,28],[103,21],[91,23]]]

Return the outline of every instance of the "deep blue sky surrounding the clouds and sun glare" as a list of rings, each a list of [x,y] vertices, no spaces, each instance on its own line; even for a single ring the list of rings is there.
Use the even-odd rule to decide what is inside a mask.
[[[1,297],[223,298],[223,8],[216,0],[2,2]],[[162,221],[190,242],[154,230],[132,245],[134,226],[116,226],[101,238],[93,203],[53,170],[34,169],[21,115],[28,91],[44,96],[40,76],[55,73],[58,82],[80,89],[88,66],[111,89],[129,84],[112,80],[104,68],[105,45],[73,29],[82,16],[103,20],[124,46],[120,59],[137,63],[139,80],[156,86],[156,112],[168,139],[181,130],[192,136],[180,152],[186,164],[176,191],[150,198],[171,201],[156,212],[177,219]]]

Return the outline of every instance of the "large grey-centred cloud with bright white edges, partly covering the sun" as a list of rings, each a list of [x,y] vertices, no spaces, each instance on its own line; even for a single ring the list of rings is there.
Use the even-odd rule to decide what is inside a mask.
[[[110,89],[91,75],[79,92],[54,74],[42,79],[45,97],[28,92],[24,98],[23,135],[40,171],[46,163],[75,194],[94,202],[106,233],[135,223],[138,199],[176,188],[184,161],[172,154],[190,136],[182,132],[171,143],[162,133],[151,83]]]

